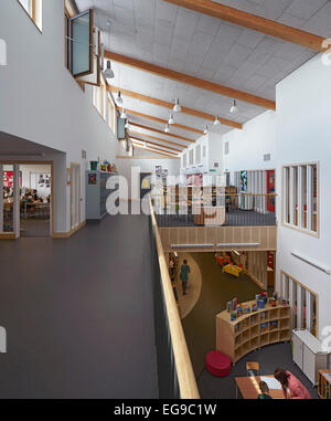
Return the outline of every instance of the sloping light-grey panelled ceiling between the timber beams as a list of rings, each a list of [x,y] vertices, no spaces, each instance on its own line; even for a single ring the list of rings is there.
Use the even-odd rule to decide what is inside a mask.
[[[222,0],[264,18],[331,36],[331,2],[328,0]],[[228,87],[275,101],[276,84],[316,55],[314,51],[263,33],[225,23],[215,18],[177,7],[162,0],[76,0],[79,11],[94,8],[96,25],[103,31],[106,50],[179,71]],[[111,21],[109,32],[107,20]],[[212,92],[113,63],[110,83],[167,102],[175,97],[184,106],[239,123],[265,112],[238,102],[239,113],[232,115],[232,99]],[[167,119],[170,112],[137,99],[124,97],[125,108]],[[148,125],[148,120],[130,118]],[[203,120],[177,114],[175,122],[203,129]],[[164,126],[150,122],[152,127]],[[212,127],[226,133],[227,126]],[[172,133],[196,139],[191,131]]]

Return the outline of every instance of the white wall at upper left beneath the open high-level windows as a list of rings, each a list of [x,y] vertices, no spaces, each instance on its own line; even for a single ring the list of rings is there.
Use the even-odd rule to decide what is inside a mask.
[[[8,65],[0,67],[0,131],[66,152],[57,162],[58,209],[56,231],[70,230],[70,187],[65,166],[82,168],[82,221],[85,220],[85,169],[98,157],[116,161],[118,141],[92,104],[92,88],[84,93],[64,64],[64,1],[43,2],[41,33],[17,1],[0,2],[1,38]],[[1,147],[1,145],[0,145]]]

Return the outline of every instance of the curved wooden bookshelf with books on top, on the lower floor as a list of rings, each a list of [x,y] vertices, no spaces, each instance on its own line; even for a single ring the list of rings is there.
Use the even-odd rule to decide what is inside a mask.
[[[243,304],[252,306],[254,303]],[[288,305],[266,305],[234,322],[226,311],[216,315],[216,349],[226,354],[233,364],[254,349],[290,339],[291,311]]]

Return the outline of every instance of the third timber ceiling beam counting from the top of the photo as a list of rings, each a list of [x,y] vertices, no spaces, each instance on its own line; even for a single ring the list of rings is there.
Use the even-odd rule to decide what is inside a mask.
[[[117,86],[108,86],[108,91],[110,91],[111,93],[120,92],[124,96],[129,96],[130,98],[142,101],[142,102],[148,103],[148,104],[158,105],[159,107],[163,107],[163,108],[172,109],[174,106],[174,104],[168,103],[167,101],[157,99],[157,98],[153,98],[151,96],[142,95],[142,94],[139,94],[139,93],[134,92],[134,91],[122,90],[122,88],[117,87]],[[211,122],[215,120],[214,115],[203,113],[203,112],[199,112],[197,109],[193,109],[193,108],[182,106],[181,112],[184,114],[189,114],[191,116],[197,117],[197,118],[203,118],[203,119],[207,119]],[[223,117],[220,117],[218,119],[220,119],[220,123],[223,124],[224,126],[238,128],[241,130],[243,129],[243,125],[241,123],[237,123],[237,122],[234,122],[234,120],[231,120],[227,118],[223,118]]]

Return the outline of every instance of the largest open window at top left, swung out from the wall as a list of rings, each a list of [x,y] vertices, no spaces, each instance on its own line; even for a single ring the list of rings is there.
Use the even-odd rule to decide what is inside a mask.
[[[100,85],[100,31],[94,27],[94,10],[71,18],[71,72],[79,82]]]

